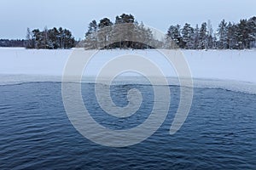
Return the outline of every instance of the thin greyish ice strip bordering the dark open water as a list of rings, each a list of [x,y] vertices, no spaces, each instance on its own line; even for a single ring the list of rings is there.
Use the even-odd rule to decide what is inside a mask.
[[[152,77],[158,81],[157,77]],[[177,77],[166,77],[169,85],[180,86]],[[182,78],[186,80],[187,78]],[[108,82],[108,77],[98,80],[97,83]],[[15,85],[25,82],[61,82],[61,76],[42,76],[42,75],[0,75],[0,85]],[[73,77],[70,77],[67,82],[73,81]],[[96,77],[83,77],[84,83],[95,83]],[[137,85],[150,85],[150,82],[145,77],[118,77],[113,80],[111,85],[126,85],[126,84],[137,84]],[[162,85],[159,81],[157,85]],[[185,87],[187,87],[185,85]],[[241,92],[245,94],[256,94],[256,83],[255,82],[241,82],[236,80],[222,80],[214,78],[193,78],[194,88],[222,88],[234,92]],[[191,88],[188,86],[188,88]]]

